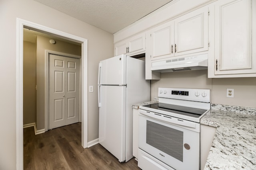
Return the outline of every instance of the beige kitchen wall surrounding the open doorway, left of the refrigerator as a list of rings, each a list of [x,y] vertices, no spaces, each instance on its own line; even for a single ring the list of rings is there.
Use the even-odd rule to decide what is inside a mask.
[[[16,169],[16,18],[88,39],[88,85],[98,62],[114,56],[113,35],[34,0],[0,1],[0,169]],[[97,92],[88,93],[88,141],[98,138]]]

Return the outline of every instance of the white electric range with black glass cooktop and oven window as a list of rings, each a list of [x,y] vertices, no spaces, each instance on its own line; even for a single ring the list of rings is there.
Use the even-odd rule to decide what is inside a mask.
[[[138,166],[199,170],[200,119],[210,110],[210,90],[159,88],[158,97],[139,107]]]

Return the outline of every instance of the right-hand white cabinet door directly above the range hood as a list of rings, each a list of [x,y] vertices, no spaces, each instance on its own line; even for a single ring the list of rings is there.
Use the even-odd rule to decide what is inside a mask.
[[[208,50],[208,7],[185,14],[174,22],[175,56]]]

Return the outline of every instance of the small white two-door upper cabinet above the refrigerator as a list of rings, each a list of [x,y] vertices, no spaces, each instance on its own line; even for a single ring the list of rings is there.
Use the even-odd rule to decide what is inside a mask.
[[[115,56],[126,54],[134,55],[142,53],[146,50],[146,37],[145,33],[135,35],[125,41],[115,44]]]

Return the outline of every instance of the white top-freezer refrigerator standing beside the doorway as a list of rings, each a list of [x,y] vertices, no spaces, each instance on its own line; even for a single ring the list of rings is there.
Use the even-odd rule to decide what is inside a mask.
[[[119,162],[132,156],[132,105],[150,100],[145,62],[120,55],[100,61],[98,70],[99,143]]]

